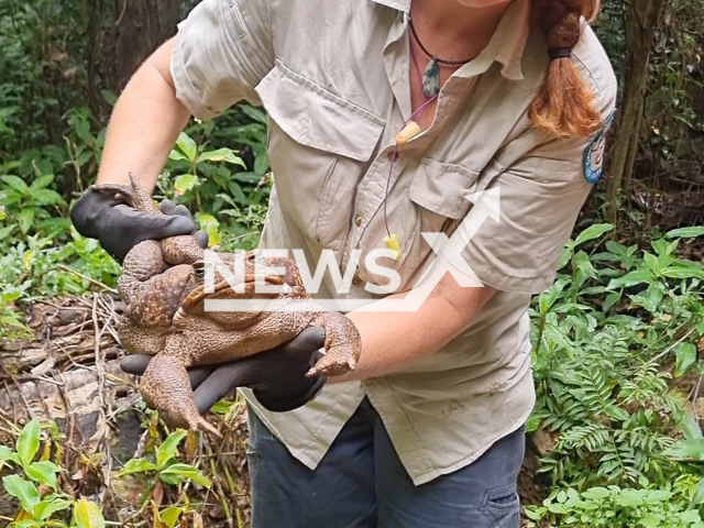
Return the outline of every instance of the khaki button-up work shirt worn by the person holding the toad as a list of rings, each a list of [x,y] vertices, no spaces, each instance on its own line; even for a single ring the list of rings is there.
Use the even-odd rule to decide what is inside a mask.
[[[364,254],[385,248],[391,152],[411,114],[408,9],[409,0],[205,0],[179,26],[172,74],[194,116],[206,120],[243,99],[268,112],[275,189],[262,245],[302,249],[311,270],[331,249],[342,272],[362,250],[350,292],[327,280],[323,296],[373,298],[365,283],[383,284]],[[515,0],[482,54],[442,87],[431,127],[399,147],[386,205],[403,253],[383,264],[406,290],[435,257],[420,233],[451,233],[472,207],[468,195],[498,188],[499,221],[484,221],[462,252],[496,295],[458,338],[403,372],[328,385],[286,414],[265,411],[245,391],[311,469],[365,395],[416,484],[471,463],[532,409],[527,309],[552,283],[591,190],[593,139],[531,128],[527,110],[548,57],[529,20],[530,1]],[[586,25],[572,59],[606,121],[616,80]]]

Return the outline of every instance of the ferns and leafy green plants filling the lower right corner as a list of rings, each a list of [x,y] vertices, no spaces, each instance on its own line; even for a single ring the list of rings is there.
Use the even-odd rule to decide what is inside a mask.
[[[674,363],[675,376],[698,369],[704,267],[675,252],[680,237],[702,230],[672,231],[648,251],[598,241],[612,229],[592,226],[570,241],[558,279],[530,310],[538,404],[529,425],[557,435],[541,471],[571,490],[532,509],[532,518],[550,514],[553,526],[635,526],[641,518],[673,522],[641,526],[700,526],[698,514],[686,524],[695,516],[685,513],[684,498],[671,509],[652,497],[683,472],[696,482],[704,475],[681,464],[704,460],[704,444],[664,367]],[[675,443],[678,428],[698,436]],[[605,507],[590,502],[590,488],[608,494]],[[634,494],[642,505],[622,504]]]

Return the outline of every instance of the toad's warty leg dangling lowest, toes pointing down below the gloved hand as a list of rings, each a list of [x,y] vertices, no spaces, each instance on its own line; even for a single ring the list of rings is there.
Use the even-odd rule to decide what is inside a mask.
[[[161,353],[150,361],[141,388],[146,405],[158,410],[167,426],[222,437],[198,413],[188,372],[176,358]]]

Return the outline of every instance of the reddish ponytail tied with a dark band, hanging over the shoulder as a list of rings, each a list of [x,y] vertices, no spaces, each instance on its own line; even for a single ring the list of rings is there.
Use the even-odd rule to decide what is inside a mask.
[[[582,34],[581,18],[596,18],[600,0],[546,0],[538,24],[548,41],[550,66],[529,116],[535,127],[556,138],[587,136],[602,127],[596,95],[572,63],[570,52]]]

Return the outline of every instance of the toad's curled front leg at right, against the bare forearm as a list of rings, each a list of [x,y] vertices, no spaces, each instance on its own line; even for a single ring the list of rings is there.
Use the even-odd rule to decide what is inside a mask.
[[[362,337],[350,319],[342,314],[323,311],[316,315],[310,326],[326,329],[326,355],[308,371],[308,376],[341,376],[356,369]]]

